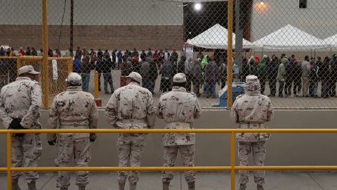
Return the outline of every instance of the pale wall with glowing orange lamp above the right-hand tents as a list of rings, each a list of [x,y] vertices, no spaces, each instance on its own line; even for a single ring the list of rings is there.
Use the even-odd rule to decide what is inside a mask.
[[[308,8],[299,8],[298,0],[253,0],[251,42],[265,37],[288,24],[320,39],[337,33],[335,0],[308,1]]]

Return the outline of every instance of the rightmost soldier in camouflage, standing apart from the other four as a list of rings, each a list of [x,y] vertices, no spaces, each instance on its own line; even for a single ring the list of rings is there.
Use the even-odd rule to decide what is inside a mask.
[[[244,95],[237,96],[231,109],[232,120],[239,123],[242,129],[264,129],[264,123],[273,116],[272,104],[267,96],[260,93],[260,82],[255,75],[246,77]],[[265,162],[265,141],[270,139],[269,133],[237,133],[240,165],[248,165],[249,155],[253,153],[254,165],[262,166]],[[240,190],[246,189],[248,171],[239,171]],[[265,171],[254,171],[254,181],[258,190],[263,190]]]

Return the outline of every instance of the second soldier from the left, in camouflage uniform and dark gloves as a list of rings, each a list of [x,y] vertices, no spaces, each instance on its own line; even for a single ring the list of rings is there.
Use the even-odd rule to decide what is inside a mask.
[[[68,75],[67,89],[55,96],[49,119],[53,129],[96,129],[98,124],[97,106],[93,95],[82,91],[82,78],[72,72]],[[67,166],[74,158],[75,166],[88,166],[90,143],[96,139],[95,133],[48,134],[48,144],[58,146],[55,165]],[[77,172],[76,185],[84,190],[88,184],[88,171]],[[67,190],[70,186],[70,173],[58,172],[57,187]]]

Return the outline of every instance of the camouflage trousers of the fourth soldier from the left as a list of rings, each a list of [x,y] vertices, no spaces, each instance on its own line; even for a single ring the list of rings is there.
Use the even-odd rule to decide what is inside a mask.
[[[177,158],[178,149],[184,166],[194,166],[195,145],[164,146],[164,167],[174,166]],[[173,179],[172,171],[163,171],[161,176],[163,182],[171,182]],[[194,171],[185,171],[186,182],[194,182],[196,179]]]

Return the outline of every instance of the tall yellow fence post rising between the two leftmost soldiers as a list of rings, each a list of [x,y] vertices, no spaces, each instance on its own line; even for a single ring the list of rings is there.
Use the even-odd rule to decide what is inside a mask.
[[[49,77],[48,77],[48,23],[47,23],[47,0],[42,0],[42,44],[43,44],[43,72],[42,84],[44,94],[44,108],[49,107]]]

